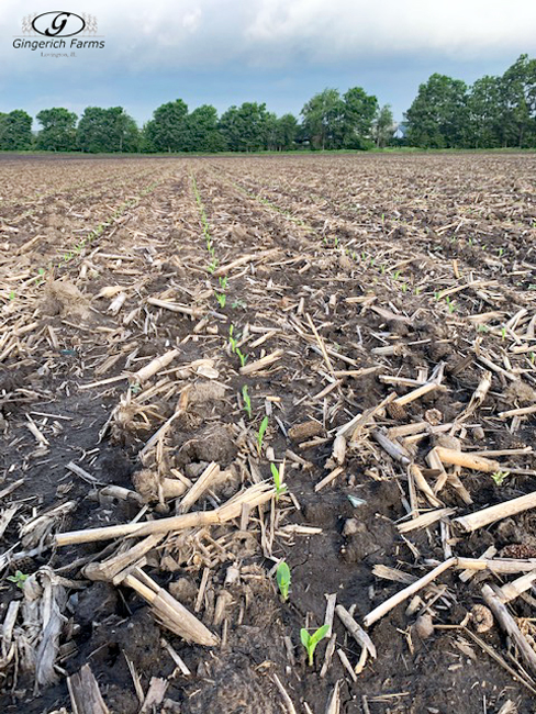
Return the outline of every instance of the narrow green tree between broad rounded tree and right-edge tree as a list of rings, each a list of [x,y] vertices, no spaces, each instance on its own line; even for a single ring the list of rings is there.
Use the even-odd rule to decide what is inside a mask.
[[[467,146],[493,148],[501,145],[503,107],[501,80],[485,76],[472,85],[467,97]]]

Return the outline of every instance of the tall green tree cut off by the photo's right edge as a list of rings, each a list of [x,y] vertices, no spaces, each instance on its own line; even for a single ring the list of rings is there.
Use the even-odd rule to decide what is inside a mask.
[[[536,145],[536,59],[521,55],[501,78],[504,146]]]

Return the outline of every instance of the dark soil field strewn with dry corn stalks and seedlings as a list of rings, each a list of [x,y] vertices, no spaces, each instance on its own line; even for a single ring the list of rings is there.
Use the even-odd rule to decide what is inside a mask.
[[[4,157],[0,200],[2,712],[534,711],[535,156]]]

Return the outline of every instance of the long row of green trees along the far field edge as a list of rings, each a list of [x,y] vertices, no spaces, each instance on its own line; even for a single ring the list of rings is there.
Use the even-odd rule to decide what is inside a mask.
[[[521,57],[501,77],[468,87],[434,74],[398,126],[389,104],[353,87],[344,94],[324,89],[300,112],[277,116],[265,103],[244,102],[221,116],[211,104],[189,111],[177,99],[158,107],[139,129],[122,107],[88,107],[80,119],[67,109],[32,118],[16,109],[0,113],[0,149],[87,153],[259,152],[369,149],[407,145],[422,148],[536,147],[536,59]],[[397,131],[399,130],[399,131]]]

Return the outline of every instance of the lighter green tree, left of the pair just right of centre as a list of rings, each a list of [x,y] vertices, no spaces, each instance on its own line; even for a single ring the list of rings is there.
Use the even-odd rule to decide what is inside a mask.
[[[345,103],[337,89],[326,88],[301,110],[303,130],[315,148],[339,148],[345,127]]]

